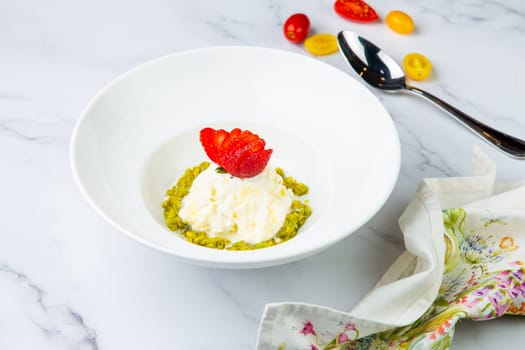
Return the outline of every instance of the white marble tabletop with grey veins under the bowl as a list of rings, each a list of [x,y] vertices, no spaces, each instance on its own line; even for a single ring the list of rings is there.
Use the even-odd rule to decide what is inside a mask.
[[[0,349],[253,349],[265,303],[350,309],[403,250],[397,218],[423,177],[468,175],[472,146],[499,179],[525,161],[481,143],[413,96],[373,92],[399,130],[396,188],[365,227],[295,263],[251,271],[183,264],[103,221],[72,181],[68,143],[88,100],[133,66],[172,52],[256,45],[306,54],[281,26],[305,12],[315,32],[353,29],[396,59],[420,51],[427,88],[479,119],[525,137],[525,2],[371,2],[410,13],[417,32],[361,25],[333,1],[133,0],[0,2]],[[339,55],[322,58],[350,71]],[[464,322],[453,349],[518,349],[524,320]]]

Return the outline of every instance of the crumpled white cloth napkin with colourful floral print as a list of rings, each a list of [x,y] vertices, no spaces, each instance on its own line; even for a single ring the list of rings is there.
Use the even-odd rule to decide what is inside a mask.
[[[448,349],[463,319],[525,315],[525,182],[425,179],[399,220],[406,252],[350,312],[266,306],[257,350]]]

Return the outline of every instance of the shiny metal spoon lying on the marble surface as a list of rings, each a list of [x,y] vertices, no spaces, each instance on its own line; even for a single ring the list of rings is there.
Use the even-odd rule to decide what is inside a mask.
[[[407,85],[401,67],[384,51],[354,32],[337,35],[339,49],[348,63],[368,84],[392,92],[408,91],[434,103],[483,140],[516,159],[525,159],[525,141],[485,125],[440,98]]]

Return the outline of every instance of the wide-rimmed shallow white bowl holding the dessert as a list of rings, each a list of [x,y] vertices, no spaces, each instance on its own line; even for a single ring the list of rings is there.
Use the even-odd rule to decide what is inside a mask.
[[[164,225],[164,193],[207,160],[202,127],[240,127],[266,139],[280,166],[310,187],[299,234],[254,251],[190,244]],[[253,268],[319,252],[365,224],[397,180],[399,138],[378,99],[338,69],[289,52],[217,47],[143,64],[86,107],[71,143],[89,203],[129,237],[205,266]]]

